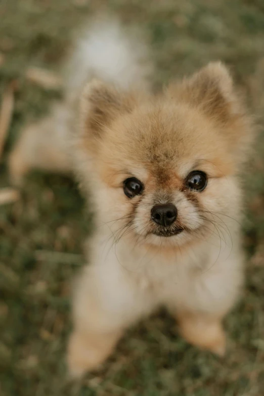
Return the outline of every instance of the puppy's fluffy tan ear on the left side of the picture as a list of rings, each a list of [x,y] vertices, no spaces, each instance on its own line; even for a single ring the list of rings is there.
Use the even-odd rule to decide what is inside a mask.
[[[111,85],[93,80],[84,90],[80,102],[81,134],[100,139],[104,128],[109,126],[118,114],[133,109],[133,99],[117,91]]]

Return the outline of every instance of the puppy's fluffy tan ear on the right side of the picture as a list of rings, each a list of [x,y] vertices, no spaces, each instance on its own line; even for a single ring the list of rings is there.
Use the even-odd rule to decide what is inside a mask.
[[[218,125],[230,144],[241,147],[252,140],[251,117],[223,63],[209,63],[191,77],[170,85],[167,93],[171,99],[202,111]]]

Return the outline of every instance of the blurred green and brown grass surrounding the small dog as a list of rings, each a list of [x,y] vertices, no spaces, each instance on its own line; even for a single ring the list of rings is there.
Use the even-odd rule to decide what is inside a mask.
[[[61,93],[24,78],[28,66],[57,69],[74,28],[99,8],[150,32],[160,86],[209,60],[227,62],[249,104],[264,113],[262,0],[2,0],[0,94],[17,80],[6,159],[26,121],[45,114]],[[253,83],[252,83],[253,82]],[[261,87],[260,87],[261,88]],[[262,91],[264,92],[264,84]],[[251,99],[250,99],[251,98]],[[262,108],[261,108],[262,106]],[[258,109],[259,110],[259,109]],[[130,329],[102,371],[71,383],[65,372],[70,281],[83,263],[91,229],[74,182],[33,173],[22,198],[0,207],[0,393],[3,396],[262,396],[264,389],[264,133],[243,176],[247,284],[226,320],[229,352],[218,360],[188,345],[163,312]],[[50,253],[51,252],[51,253]],[[56,253],[52,253],[56,252]]]

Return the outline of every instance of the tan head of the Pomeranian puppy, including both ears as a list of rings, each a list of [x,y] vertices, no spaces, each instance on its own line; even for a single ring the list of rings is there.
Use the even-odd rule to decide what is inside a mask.
[[[179,247],[208,234],[229,237],[249,122],[222,65],[156,98],[121,96],[92,83],[82,121],[100,220],[116,242]]]

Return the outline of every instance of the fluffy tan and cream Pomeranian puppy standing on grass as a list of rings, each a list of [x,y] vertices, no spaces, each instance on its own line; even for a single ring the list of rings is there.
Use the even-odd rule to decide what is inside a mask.
[[[17,169],[36,166],[36,147],[46,155],[41,167],[47,159],[50,168],[73,166],[93,205],[90,265],[73,299],[73,375],[97,368],[125,329],[159,306],[187,341],[224,355],[223,318],[243,285],[238,172],[253,136],[251,118],[220,62],[158,95],[141,89],[150,70],[140,65],[142,49],[117,25],[90,31],[74,58],[81,82],[74,84],[82,85],[85,74],[101,80],[84,87],[74,137],[65,144],[65,120],[76,124],[67,99],[56,110],[65,113],[62,120],[54,112],[52,125],[43,126],[49,138],[27,135],[11,159],[14,180],[21,177]],[[26,149],[31,163],[25,166]]]

